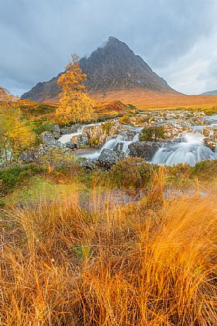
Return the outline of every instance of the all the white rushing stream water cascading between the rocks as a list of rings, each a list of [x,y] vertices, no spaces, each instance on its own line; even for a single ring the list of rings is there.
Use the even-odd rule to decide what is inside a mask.
[[[207,116],[211,122],[210,126],[217,126],[217,116]],[[61,143],[68,143],[73,136],[79,136],[83,133],[83,128],[88,126],[99,126],[101,123],[92,123],[90,125],[80,126],[76,133],[70,133],[59,138]],[[159,165],[177,165],[179,163],[188,163],[191,166],[196,165],[199,161],[205,160],[217,160],[217,150],[211,151],[208,148],[203,139],[204,126],[191,127],[191,132],[182,133],[177,142],[169,143],[159,148],[152,157],[150,163]],[[122,133],[120,135],[108,136],[104,146],[100,149],[87,148],[85,151],[75,151],[79,157],[90,158],[93,161],[97,160],[103,149],[107,148],[112,151],[121,150],[124,151],[126,156],[129,155],[129,144],[134,141],[139,141],[139,133],[144,127],[131,127],[130,133]],[[89,151],[88,151],[89,149]]]

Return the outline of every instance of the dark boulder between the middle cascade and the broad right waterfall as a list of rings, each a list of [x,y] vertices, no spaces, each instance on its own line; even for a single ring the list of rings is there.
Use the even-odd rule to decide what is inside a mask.
[[[156,141],[135,141],[129,144],[129,156],[150,161],[159,147],[160,143]]]

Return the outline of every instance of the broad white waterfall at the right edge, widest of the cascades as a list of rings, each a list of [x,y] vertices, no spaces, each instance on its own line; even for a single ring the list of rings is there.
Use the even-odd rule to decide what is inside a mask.
[[[185,142],[159,148],[152,158],[152,163],[160,165],[177,165],[188,163],[191,166],[199,161],[216,160],[217,155],[203,142],[203,135],[199,132],[186,133]]]

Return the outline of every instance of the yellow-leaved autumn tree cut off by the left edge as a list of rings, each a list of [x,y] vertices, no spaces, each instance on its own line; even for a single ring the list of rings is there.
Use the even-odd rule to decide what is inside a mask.
[[[16,97],[0,87],[0,153],[1,165],[9,165],[21,151],[35,141],[34,133],[24,120]]]

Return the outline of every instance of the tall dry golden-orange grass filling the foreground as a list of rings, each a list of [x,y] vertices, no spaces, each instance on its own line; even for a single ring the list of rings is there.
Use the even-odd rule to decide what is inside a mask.
[[[216,198],[164,200],[162,183],[124,207],[2,211],[1,325],[217,325]]]

